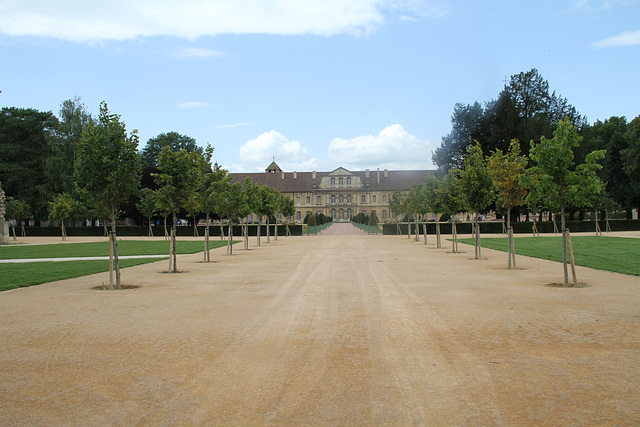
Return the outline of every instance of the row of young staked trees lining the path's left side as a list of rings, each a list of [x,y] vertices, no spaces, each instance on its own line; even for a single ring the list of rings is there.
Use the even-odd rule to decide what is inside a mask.
[[[63,107],[67,106],[63,103]],[[82,111],[82,109],[75,109]],[[82,116],[82,114],[80,114]],[[40,197],[51,194],[56,189],[63,190],[51,197],[48,206],[48,218],[61,221],[64,238],[64,220],[72,215],[80,218],[108,219],[111,223],[111,242],[113,244],[115,285],[121,287],[116,238],[116,218],[121,207],[132,197],[138,195],[142,176],[142,158],[138,151],[138,136],[134,130],[127,132],[124,122],[116,114],[109,112],[105,102],[100,105],[97,120],[87,119],[83,122],[80,137],[74,140],[73,169],[69,175],[71,182],[51,186]],[[56,138],[57,140],[57,138]],[[59,144],[63,145],[63,144]],[[68,148],[68,147],[67,147]],[[171,271],[177,272],[175,250],[175,224],[179,212],[188,212],[191,216],[204,214],[207,225],[210,218],[216,215],[226,218],[231,224],[239,222],[250,213],[259,217],[273,217],[276,212],[285,216],[293,215],[293,200],[281,195],[271,187],[253,184],[251,180],[244,183],[231,183],[231,177],[224,169],[212,167],[213,148],[194,149],[193,146],[166,145],[153,154],[154,172],[150,173],[154,188],[145,188],[140,192],[138,208],[149,218],[157,214],[171,216],[173,221],[171,233]],[[47,158],[51,160],[51,157]],[[45,162],[47,163],[47,162]],[[64,163],[64,162],[62,162]],[[18,163],[14,171],[21,173]],[[62,174],[61,174],[62,175]],[[15,179],[9,180],[16,189]],[[72,184],[72,187],[69,186]],[[17,188],[20,190],[19,188]],[[18,191],[18,194],[21,194]],[[26,193],[23,193],[26,194]],[[36,200],[32,206],[39,206]],[[29,203],[12,198],[8,203],[9,218],[23,219],[28,214]],[[268,219],[267,219],[268,221]],[[165,222],[166,224],[166,222]],[[258,230],[260,227],[258,227]],[[208,247],[208,226],[205,235],[205,261],[210,260]],[[229,227],[229,246],[231,254],[232,227]],[[267,227],[267,240],[269,240]],[[258,244],[260,244],[258,231]],[[248,232],[245,228],[245,248],[248,247]],[[15,235],[15,231],[14,231]]]

